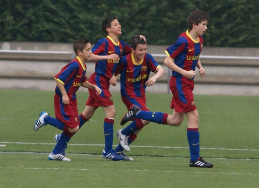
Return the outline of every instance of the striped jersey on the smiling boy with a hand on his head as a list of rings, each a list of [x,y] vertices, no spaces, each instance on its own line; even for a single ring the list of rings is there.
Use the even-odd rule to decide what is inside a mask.
[[[120,93],[122,97],[141,97],[146,93],[146,81],[150,72],[155,72],[160,65],[153,56],[146,54],[141,63],[137,64],[133,54],[120,59],[115,76],[120,74]]]

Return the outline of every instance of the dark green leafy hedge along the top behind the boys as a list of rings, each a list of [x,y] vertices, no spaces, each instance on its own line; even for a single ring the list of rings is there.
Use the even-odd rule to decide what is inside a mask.
[[[0,41],[91,42],[105,36],[102,21],[117,15],[122,26],[120,39],[130,42],[145,35],[149,44],[169,45],[187,29],[193,10],[211,15],[205,46],[259,47],[258,1],[251,0],[2,0]]]

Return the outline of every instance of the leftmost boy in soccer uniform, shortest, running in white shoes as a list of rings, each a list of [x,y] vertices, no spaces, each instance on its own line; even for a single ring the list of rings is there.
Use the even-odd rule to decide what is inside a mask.
[[[75,41],[74,51],[77,58],[64,66],[54,77],[57,84],[54,96],[56,119],[48,116],[48,113],[43,111],[40,113],[40,118],[34,124],[35,131],[47,123],[54,127],[61,127],[63,130],[56,146],[48,156],[49,160],[71,161],[60,153],[61,150],[66,147],[74,133],[79,130],[76,96],[76,91],[79,87],[83,86],[90,90],[94,90],[95,95],[101,94],[101,89],[98,86],[89,83],[85,76],[85,61],[90,60],[92,54],[90,41],[85,39]]]

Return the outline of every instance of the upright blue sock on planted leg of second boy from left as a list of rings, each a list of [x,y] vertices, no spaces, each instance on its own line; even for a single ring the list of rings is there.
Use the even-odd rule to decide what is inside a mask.
[[[113,143],[113,123],[114,119],[105,118],[103,123],[105,147],[104,151],[109,152],[112,150]]]

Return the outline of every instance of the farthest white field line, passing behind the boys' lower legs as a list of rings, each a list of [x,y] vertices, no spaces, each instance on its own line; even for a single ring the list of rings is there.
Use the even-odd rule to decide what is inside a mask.
[[[20,143],[20,142],[0,142],[0,144],[28,144],[28,145],[55,145],[55,143]],[[101,144],[69,144],[70,146],[104,146]],[[1,146],[1,145],[0,145]],[[117,145],[113,145],[116,147]],[[189,149],[188,147],[170,147],[170,146],[131,146],[133,148],[165,148],[165,149]],[[255,151],[253,149],[227,149],[227,148],[200,148],[202,150],[232,150],[232,151]]]

